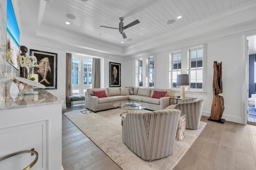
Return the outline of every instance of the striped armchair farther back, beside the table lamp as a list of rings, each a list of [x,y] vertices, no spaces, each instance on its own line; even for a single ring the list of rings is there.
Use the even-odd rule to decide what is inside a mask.
[[[198,129],[204,105],[202,98],[190,98],[181,100],[178,104],[172,104],[166,109],[178,109],[186,114],[186,129]]]

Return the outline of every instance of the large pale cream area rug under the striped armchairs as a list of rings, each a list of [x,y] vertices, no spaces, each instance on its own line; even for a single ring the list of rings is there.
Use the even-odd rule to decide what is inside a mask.
[[[175,141],[172,155],[160,160],[145,161],[136,156],[122,142],[121,109],[110,109],[86,114],[80,111],[64,113],[76,127],[102,149],[124,170],[171,170],[204,129],[206,123],[200,122],[197,130],[186,129],[182,141]]]

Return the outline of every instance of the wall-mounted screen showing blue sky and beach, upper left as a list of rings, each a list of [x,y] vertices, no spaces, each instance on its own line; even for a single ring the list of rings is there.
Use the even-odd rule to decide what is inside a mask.
[[[14,68],[19,69],[18,55],[20,53],[20,30],[14,14],[11,0],[7,0],[7,43],[6,60]]]

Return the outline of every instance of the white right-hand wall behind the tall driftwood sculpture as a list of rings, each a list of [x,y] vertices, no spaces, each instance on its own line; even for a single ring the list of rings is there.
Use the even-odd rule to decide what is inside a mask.
[[[197,44],[187,42],[185,45],[175,44],[170,45],[166,49],[156,51],[156,85],[155,88],[168,88],[168,53],[171,51],[182,51],[182,55],[186,54],[188,48],[202,45],[206,43],[206,93],[187,92],[187,97],[204,98],[204,107],[202,115],[210,117],[210,111],[212,106],[212,79],[213,79],[213,62],[222,61],[222,82],[223,93],[219,94],[224,97],[224,113],[222,118],[226,121],[233,121],[237,123],[244,123],[245,112],[242,111],[242,82],[244,70],[244,60],[246,60],[246,53],[244,42],[245,37],[240,35],[236,37],[230,37],[226,39],[220,39],[215,41],[204,41],[203,39],[197,39]],[[152,55],[152,51],[150,54]],[[148,56],[148,55],[144,55]],[[132,56],[133,59],[125,61],[124,65],[126,69],[132,74],[127,74],[126,83],[129,86],[134,86],[134,70],[135,60],[141,58],[140,56]],[[186,58],[186,57],[185,57]],[[184,59],[184,57],[182,57]],[[186,63],[182,61],[182,64]],[[132,68],[131,68],[132,67]],[[183,66],[182,66],[183,67]],[[186,68],[186,67],[184,67]],[[128,72],[127,70],[127,72]],[[130,83],[128,83],[130,82]],[[133,83],[131,83],[133,82]],[[176,96],[180,96],[180,92],[176,92]]]

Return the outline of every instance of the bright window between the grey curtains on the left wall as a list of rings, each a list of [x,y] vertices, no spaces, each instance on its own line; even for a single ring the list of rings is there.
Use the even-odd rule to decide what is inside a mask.
[[[92,60],[72,58],[72,95],[85,94],[92,88]]]

